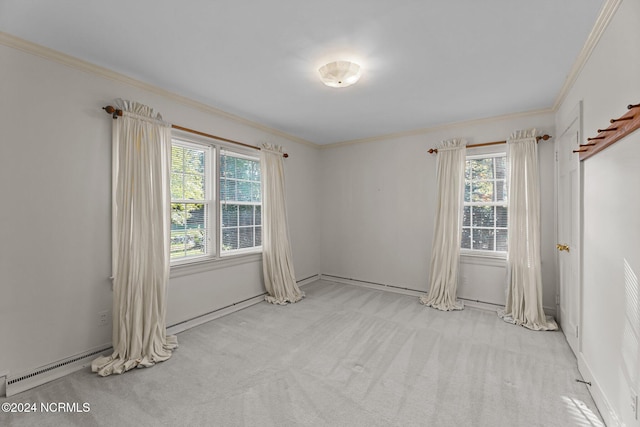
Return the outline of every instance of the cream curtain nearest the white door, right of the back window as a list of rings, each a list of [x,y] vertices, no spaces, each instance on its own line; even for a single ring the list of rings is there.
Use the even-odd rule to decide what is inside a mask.
[[[540,172],[536,130],[514,132],[507,141],[509,221],[507,302],[498,315],[533,330],[555,330],[542,309]]]

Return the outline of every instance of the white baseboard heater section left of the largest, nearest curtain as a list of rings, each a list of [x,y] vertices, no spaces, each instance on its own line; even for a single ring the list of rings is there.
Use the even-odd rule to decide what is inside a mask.
[[[23,372],[15,376],[9,375],[7,376],[6,395],[7,397],[13,396],[14,394],[46,384],[72,372],[91,366],[91,362],[95,358],[103,354],[109,354],[112,351],[111,346],[102,346],[49,365],[41,366],[33,371]]]

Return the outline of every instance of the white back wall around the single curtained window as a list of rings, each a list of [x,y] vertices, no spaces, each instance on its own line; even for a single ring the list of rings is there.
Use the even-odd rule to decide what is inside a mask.
[[[443,139],[468,144],[505,140],[518,129],[553,134],[551,113],[469,122],[426,133],[336,145],[321,151],[322,273],[428,291],[436,197],[436,157]],[[555,311],[554,148],[541,142],[544,305]],[[468,154],[505,150],[474,148]],[[505,301],[505,262],[463,257],[458,295]]]

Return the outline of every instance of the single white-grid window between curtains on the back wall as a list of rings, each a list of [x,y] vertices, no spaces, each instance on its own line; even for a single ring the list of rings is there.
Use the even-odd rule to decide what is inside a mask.
[[[504,153],[467,157],[462,249],[507,251],[506,164]]]

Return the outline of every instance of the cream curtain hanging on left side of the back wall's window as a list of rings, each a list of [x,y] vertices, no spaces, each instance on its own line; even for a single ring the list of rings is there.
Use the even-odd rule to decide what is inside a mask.
[[[451,139],[438,147],[436,219],[431,250],[429,293],[420,302],[438,310],[462,310],[456,300],[460,241],[462,238],[461,207],[464,191],[465,141]]]

